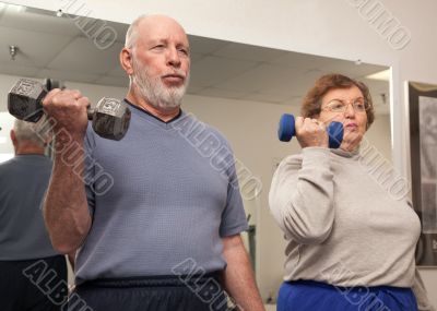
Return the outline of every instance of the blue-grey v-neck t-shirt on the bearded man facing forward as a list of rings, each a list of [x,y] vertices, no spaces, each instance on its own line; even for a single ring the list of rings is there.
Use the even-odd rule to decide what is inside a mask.
[[[232,149],[216,130],[181,112],[163,122],[130,105],[121,141],[86,133],[93,224],[76,258],[76,283],[172,275],[196,263],[226,265],[222,238],[247,229]]]

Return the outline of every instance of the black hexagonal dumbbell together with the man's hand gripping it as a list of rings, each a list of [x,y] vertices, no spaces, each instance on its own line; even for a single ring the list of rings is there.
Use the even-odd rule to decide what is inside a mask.
[[[20,120],[37,122],[46,111],[57,125],[81,137],[87,120],[93,121],[94,131],[105,139],[119,141],[128,131],[131,112],[119,99],[104,97],[92,109],[88,98],[76,89],[48,91],[39,82],[20,79],[8,94],[9,112]]]

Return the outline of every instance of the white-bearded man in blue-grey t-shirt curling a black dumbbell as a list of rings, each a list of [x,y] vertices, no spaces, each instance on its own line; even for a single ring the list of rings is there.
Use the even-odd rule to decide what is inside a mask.
[[[55,89],[44,101],[57,132],[46,224],[60,252],[78,249],[69,310],[228,310],[228,296],[239,309],[263,310],[239,235],[247,222],[231,147],[180,109],[190,70],[184,28],[140,16],[120,62],[132,110],[121,141],[87,129],[79,91]],[[62,160],[72,154],[81,160]]]

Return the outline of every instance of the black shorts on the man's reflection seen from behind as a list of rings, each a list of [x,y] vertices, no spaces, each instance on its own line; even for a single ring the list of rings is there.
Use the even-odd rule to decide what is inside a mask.
[[[0,261],[1,311],[59,311],[67,294],[63,255]]]

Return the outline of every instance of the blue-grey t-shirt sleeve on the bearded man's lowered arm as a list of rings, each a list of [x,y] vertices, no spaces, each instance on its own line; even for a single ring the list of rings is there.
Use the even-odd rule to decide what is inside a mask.
[[[222,213],[222,223],[220,226],[220,236],[222,238],[234,236],[248,229],[234,163],[233,160],[228,170],[229,182],[227,186],[227,200],[226,206]]]

